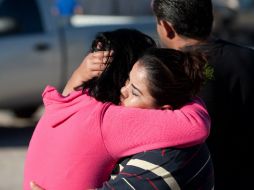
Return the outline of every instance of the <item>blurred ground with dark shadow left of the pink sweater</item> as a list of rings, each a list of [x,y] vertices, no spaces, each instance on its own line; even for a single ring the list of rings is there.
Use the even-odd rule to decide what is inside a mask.
[[[22,190],[25,155],[38,117],[17,118],[0,110],[0,190]]]

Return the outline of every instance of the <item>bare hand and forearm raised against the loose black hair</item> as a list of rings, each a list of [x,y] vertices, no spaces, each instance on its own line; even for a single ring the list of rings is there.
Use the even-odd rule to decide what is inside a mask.
[[[80,86],[83,82],[99,76],[106,68],[106,62],[112,54],[109,51],[97,51],[89,53],[80,66],[73,72],[71,78],[67,82],[62,95],[67,96],[73,89]]]

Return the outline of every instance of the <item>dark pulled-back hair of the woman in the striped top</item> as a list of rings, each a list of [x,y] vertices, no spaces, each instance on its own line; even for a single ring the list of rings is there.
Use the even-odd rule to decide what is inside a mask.
[[[197,95],[208,78],[205,56],[196,52],[151,48],[139,59],[157,106],[179,108]]]

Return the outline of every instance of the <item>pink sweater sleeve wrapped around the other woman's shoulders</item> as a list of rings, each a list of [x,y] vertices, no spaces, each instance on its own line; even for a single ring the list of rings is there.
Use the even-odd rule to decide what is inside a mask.
[[[145,150],[200,144],[210,132],[210,117],[198,98],[174,111],[112,105],[104,111],[102,136],[115,159]]]

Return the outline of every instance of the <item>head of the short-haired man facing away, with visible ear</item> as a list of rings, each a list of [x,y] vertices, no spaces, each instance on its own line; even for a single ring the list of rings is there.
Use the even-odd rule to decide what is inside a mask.
[[[176,35],[204,41],[211,33],[211,0],[153,0],[152,9],[162,41],[166,38],[173,39]]]

